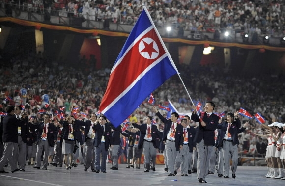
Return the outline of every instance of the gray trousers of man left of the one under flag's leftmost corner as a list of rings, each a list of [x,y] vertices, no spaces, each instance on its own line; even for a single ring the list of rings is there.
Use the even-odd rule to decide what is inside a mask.
[[[94,146],[94,139],[87,139],[86,140],[86,154],[85,154],[85,168],[95,169],[95,146]]]

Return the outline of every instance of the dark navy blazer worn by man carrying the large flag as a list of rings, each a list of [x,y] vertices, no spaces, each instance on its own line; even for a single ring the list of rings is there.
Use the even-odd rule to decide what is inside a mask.
[[[201,113],[199,113],[201,115]],[[191,115],[191,119],[195,122],[199,122],[199,126],[196,128],[196,135],[194,141],[199,143],[204,139],[204,144],[209,146],[215,145],[215,130],[217,129],[218,122],[220,117],[212,113],[210,117],[207,114],[204,114],[203,121],[206,123],[206,126],[201,125],[200,119],[197,114]]]

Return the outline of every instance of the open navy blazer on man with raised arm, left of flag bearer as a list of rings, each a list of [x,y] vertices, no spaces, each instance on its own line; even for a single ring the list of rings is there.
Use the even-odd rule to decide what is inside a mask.
[[[161,115],[160,112],[157,112],[156,115],[164,123],[164,130],[163,130],[162,141],[166,141],[167,134],[168,134],[168,132],[169,132],[169,130],[171,128],[171,125],[172,125],[172,121],[171,120],[167,120],[165,117],[163,117]],[[183,140],[184,140],[184,138],[183,138],[183,126],[182,125],[177,124],[174,138],[175,138],[175,148],[176,148],[176,151],[179,151],[179,146],[183,145]]]

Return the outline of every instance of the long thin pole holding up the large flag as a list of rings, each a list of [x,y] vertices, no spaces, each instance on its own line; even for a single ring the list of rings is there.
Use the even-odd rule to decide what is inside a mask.
[[[171,57],[170,53],[168,52],[168,50],[167,50],[167,48],[166,48],[166,46],[165,46],[165,44],[164,44],[162,38],[160,37],[160,34],[159,34],[157,28],[155,27],[155,25],[154,25],[154,23],[153,23],[153,21],[152,21],[152,18],[151,18],[151,16],[150,16],[148,10],[146,9],[146,7],[145,7],[144,4],[142,4],[142,6],[143,6],[143,9],[145,10],[146,15],[148,16],[148,18],[149,18],[151,24],[154,26],[153,28],[154,28],[156,34],[159,36],[158,38],[159,38],[159,40],[160,40],[160,42],[161,42],[161,44],[162,44],[162,47],[164,48],[165,52],[166,52],[167,55],[169,56],[170,62],[171,62],[171,64],[172,64],[172,66],[175,68],[175,70],[176,70],[176,72],[177,72],[177,74],[178,74],[178,76],[179,76],[179,78],[180,78],[180,80],[181,80],[181,82],[182,82],[182,84],[183,84],[183,86],[184,86],[184,88],[185,88],[185,90],[186,90],[186,92],[187,92],[187,94],[188,94],[190,100],[191,100],[191,103],[193,104],[193,106],[195,106],[194,103],[193,103],[193,100],[192,100],[192,98],[191,98],[191,96],[190,96],[190,94],[189,94],[189,92],[188,92],[188,90],[187,90],[187,88],[186,88],[186,86],[185,86],[185,84],[184,84],[184,82],[183,82],[181,76],[180,76],[180,73],[178,72],[178,69],[176,68],[175,63],[174,63],[174,61],[172,60],[172,57]],[[201,119],[196,108],[195,108],[195,110],[196,110],[196,113],[197,113],[199,119]]]

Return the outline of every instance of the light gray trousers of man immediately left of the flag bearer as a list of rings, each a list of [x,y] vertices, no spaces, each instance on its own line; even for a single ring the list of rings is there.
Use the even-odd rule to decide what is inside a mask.
[[[189,169],[189,159],[192,154],[189,152],[188,144],[183,145],[182,150],[179,150],[176,156],[175,170],[178,172],[181,166],[181,174],[188,174]]]

